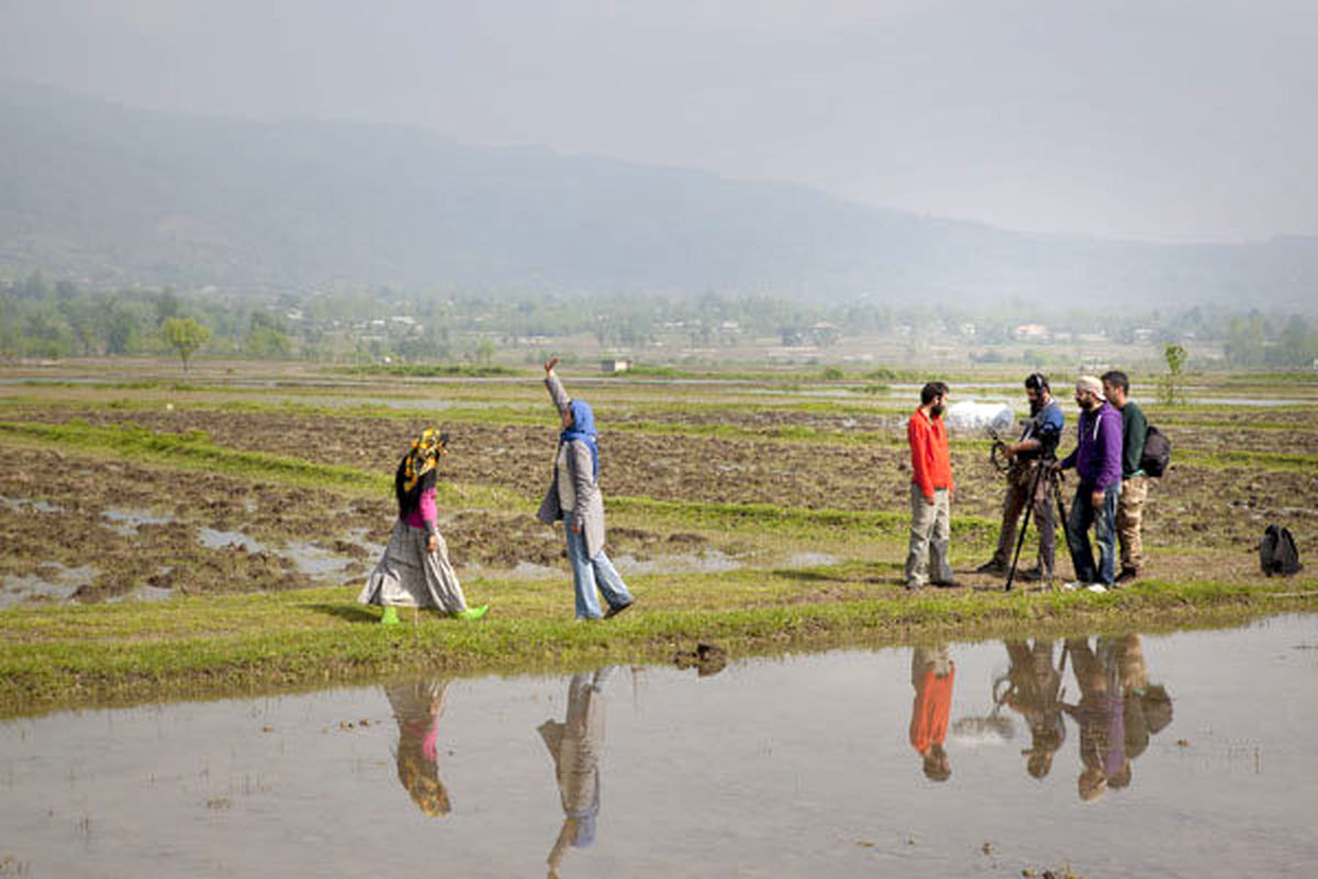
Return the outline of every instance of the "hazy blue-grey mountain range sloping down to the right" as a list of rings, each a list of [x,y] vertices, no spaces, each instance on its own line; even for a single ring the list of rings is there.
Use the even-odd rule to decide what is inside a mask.
[[[1035,236],[416,128],[0,87],[0,266],[95,283],[1305,303],[1318,239]]]

